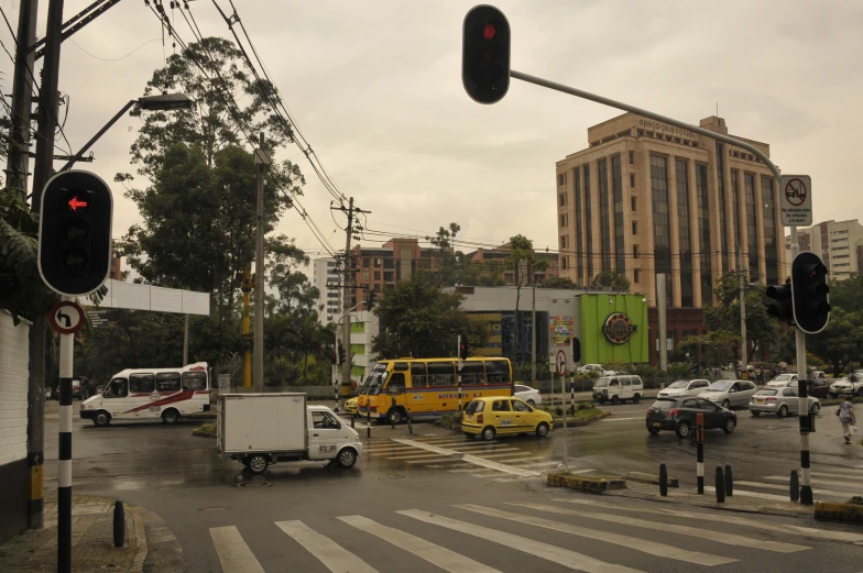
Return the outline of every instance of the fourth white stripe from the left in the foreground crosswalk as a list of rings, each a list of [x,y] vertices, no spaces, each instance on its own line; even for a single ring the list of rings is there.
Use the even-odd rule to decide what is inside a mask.
[[[478,537],[487,541],[492,541],[494,543],[499,543],[511,549],[515,549],[516,551],[551,561],[553,563],[557,563],[576,571],[583,571],[586,573],[642,573],[636,569],[599,561],[598,559],[593,559],[581,553],[576,553],[575,551],[570,551],[568,549],[543,543],[542,541],[536,541],[535,539],[528,539],[526,537],[507,533],[498,529],[477,526],[467,521],[459,521],[458,519],[450,519],[448,517],[438,516],[429,511],[407,509],[403,511],[396,511],[396,514],[413,517],[414,519],[424,521],[426,524],[460,531],[462,533]]]

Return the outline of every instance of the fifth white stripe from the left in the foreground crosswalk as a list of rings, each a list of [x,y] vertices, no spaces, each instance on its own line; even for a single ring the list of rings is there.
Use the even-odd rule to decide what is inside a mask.
[[[657,541],[648,541],[645,539],[638,539],[611,531],[600,531],[598,529],[579,527],[570,524],[561,524],[551,519],[543,519],[540,517],[534,517],[526,514],[513,514],[510,511],[502,511],[500,509],[473,504],[457,505],[455,507],[459,509],[467,509],[468,511],[473,511],[484,516],[499,517],[502,519],[516,521],[518,524],[527,524],[536,527],[543,527],[545,529],[571,533],[573,536],[583,537],[587,539],[596,539],[598,541],[613,543],[615,546],[623,546],[634,549],[635,551],[641,551],[642,553],[656,555],[658,558],[676,559],[678,561],[686,561],[688,563],[697,563],[699,565],[708,566],[722,565],[724,563],[733,563],[738,561],[736,559],[711,555],[710,553],[701,553],[699,551],[686,551],[674,546],[659,543]]]

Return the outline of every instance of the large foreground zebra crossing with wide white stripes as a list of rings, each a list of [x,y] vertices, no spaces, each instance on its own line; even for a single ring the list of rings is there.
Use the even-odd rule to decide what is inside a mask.
[[[560,565],[559,571],[646,573],[667,571],[668,560],[703,568],[736,563],[724,571],[742,571],[744,562],[765,554],[782,570],[794,564],[796,553],[811,550],[815,540],[863,543],[863,533],[853,531],[581,497],[495,507],[454,504],[434,511],[405,508],[256,527],[269,530],[261,536],[234,526],[209,528],[223,573],[284,571],[286,562],[295,568],[291,571],[308,573],[509,573],[549,571],[547,562]]]

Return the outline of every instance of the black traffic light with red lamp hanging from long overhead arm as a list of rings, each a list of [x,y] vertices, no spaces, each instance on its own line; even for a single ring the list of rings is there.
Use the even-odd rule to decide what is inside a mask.
[[[510,22],[491,5],[465,16],[461,81],[479,103],[495,103],[510,89]]]

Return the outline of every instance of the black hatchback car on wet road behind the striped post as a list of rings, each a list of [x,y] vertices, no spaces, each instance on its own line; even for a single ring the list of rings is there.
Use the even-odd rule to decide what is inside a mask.
[[[647,410],[647,431],[656,436],[663,430],[677,432],[680,438],[689,436],[696,426],[696,416],[704,415],[704,429],[722,428],[731,433],[738,426],[738,415],[703,398],[657,398]]]

